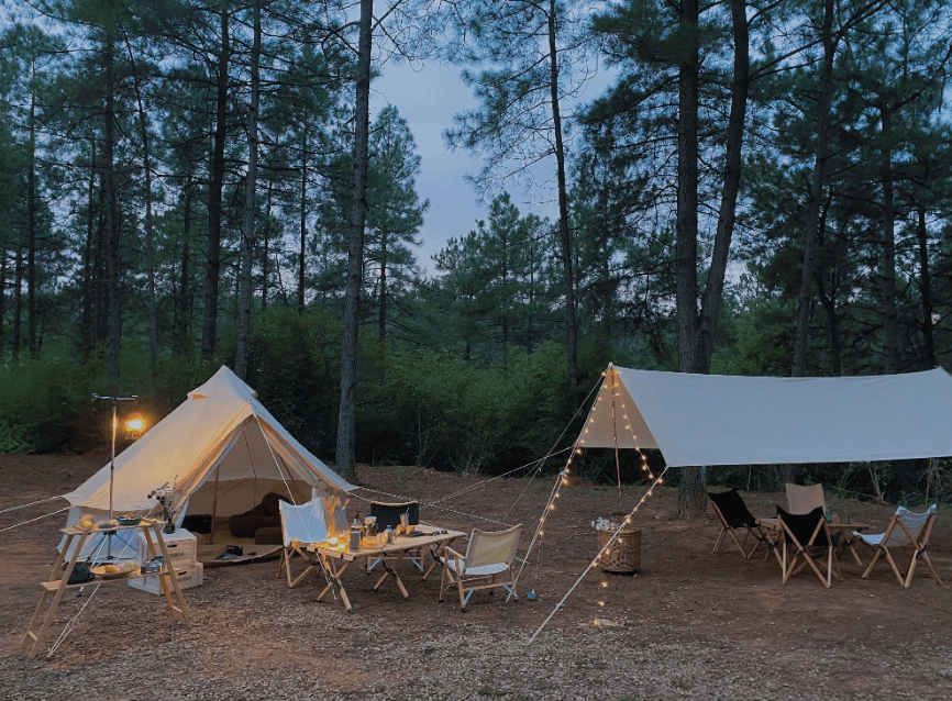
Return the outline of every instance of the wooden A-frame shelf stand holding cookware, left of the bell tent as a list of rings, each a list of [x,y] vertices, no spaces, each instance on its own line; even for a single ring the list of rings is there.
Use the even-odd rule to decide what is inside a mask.
[[[37,653],[43,647],[43,641],[49,632],[49,626],[53,623],[56,609],[59,605],[59,601],[63,599],[63,593],[67,589],[76,589],[77,587],[86,587],[90,585],[125,583],[129,579],[145,576],[136,572],[114,579],[97,577],[96,579],[90,579],[84,582],[68,583],[69,576],[73,574],[73,569],[76,567],[76,563],[79,559],[79,555],[82,553],[82,546],[86,544],[89,536],[96,533],[141,528],[145,536],[145,542],[148,544],[150,558],[160,554],[165,558],[166,563],[170,563],[168,547],[165,545],[165,539],[162,537],[163,525],[164,523],[162,521],[143,519],[135,525],[126,526],[113,526],[107,524],[96,525],[91,528],[80,528],[78,525],[73,525],[67,528],[60,528],[60,532],[66,535],[66,543],[64,543],[63,549],[59,552],[59,557],[56,559],[56,564],[53,565],[53,571],[49,572],[49,577],[46,581],[40,582],[43,587],[43,596],[40,598],[36,611],[30,620],[30,625],[26,628],[26,633],[23,635],[23,639],[20,642],[20,647],[30,650],[30,659],[36,657]],[[73,547],[74,544],[75,547]],[[63,563],[66,560],[67,554],[70,553],[70,548],[73,555],[69,557],[66,568],[63,569]],[[158,572],[148,574],[158,575],[159,583],[162,585],[162,592],[165,594],[165,600],[168,604],[171,617],[176,619],[181,616],[186,626],[191,627],[191,616],[188,613],[188,607],[185,603],[181,587],[178,585],[178,578],[174,576],[175,568],[170,565],[166,565]],[[171,587],[169,587],[169,582],[171,583]],[[53,597],[52,601],[51,596]]]

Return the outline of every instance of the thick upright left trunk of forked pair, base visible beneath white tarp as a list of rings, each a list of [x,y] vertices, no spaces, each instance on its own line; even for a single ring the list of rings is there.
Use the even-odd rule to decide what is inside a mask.
[[[698,2],[680,4],[680,34],[690,49],[678,68],[677,115],[677,346],[678,370],[700,367],[697,313],[697,200],[698,200]],[[678,520],[696,520],[707,511],[704,468],[683,467],[678,490]]]

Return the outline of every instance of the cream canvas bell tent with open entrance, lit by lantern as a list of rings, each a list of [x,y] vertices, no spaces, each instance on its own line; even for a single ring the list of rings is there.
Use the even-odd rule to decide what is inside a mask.
[[[110,471],[107,463],[64,494],[71,504],[67,525],[85,513],[97,521],[108,518]],[[148,494],[166,483],[188,499],[179,523],[186,511],[219,518],[243,513],[269,491],[290,492],[296,503],[320,497],[333,507],[354,489],[288,433],[257,392],[225,366],[117,456],[113,513],[153,513],[157,504]],[[93,542],[84,549],[97,546]]]

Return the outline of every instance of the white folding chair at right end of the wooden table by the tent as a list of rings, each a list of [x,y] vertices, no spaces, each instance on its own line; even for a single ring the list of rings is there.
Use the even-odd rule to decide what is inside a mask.
[[[491,533],[474,528],[465,556],[453,548],[443,548],[440,555],[440,563],[443,565],[440,603],[443,603],[443,591],[453,585],[460,592],[460,609],[464,613],[466,602],[477,589],[502,587],[518,599],[512,563],[516,560],[521,535],[522,524]]]

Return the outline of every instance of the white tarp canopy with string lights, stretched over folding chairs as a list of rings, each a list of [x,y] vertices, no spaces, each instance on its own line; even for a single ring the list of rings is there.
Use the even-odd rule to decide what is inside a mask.
[[[952,456],[952,376],[775,378],[610,367],[582,447],[658,448],[672,467]]]

